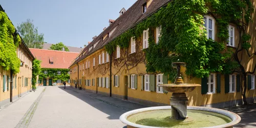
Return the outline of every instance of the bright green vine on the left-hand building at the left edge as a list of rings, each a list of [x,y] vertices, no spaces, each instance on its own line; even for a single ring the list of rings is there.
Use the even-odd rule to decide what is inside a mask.
[[[12,70],[14,74],[19,72],[20,60],[16,50],[20,42],[21,39],[15,34],[15,28],[7,14],[0,11],[0,66],[4,70]]]

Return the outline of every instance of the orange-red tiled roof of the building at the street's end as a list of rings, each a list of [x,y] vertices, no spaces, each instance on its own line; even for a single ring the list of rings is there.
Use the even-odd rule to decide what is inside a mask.
[[[41,68],[68,69],[78,56],[76,52],[29,49],[36,59],[41,60]],[[53,61],[53,64],[50,64]]]

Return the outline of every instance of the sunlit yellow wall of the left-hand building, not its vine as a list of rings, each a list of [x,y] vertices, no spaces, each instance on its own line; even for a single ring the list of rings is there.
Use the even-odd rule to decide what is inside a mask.
[[[1,5],[0,11],[4,11]],[[18,33],[17,36],[19,36]],[[14,74],[11,70],[4,70],[0,65],[0,107],[22,97],[32,88],[32,62],[34,56],[29,51],[25,42],[22,39],[21,41],[15,51],[15,57],[20,60],[19,72]],[[6,57],[6,59],[8,59],[8,57]]]

